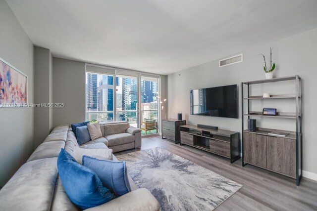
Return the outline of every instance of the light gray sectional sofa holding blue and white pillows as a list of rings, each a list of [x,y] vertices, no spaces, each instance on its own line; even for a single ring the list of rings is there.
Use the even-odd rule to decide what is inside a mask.
[[[122,122],[102,124],[101,128],[104,128],[105,137],[79,146],[68,125],[55,127],[0,190],[0,210],[78,211],[79,208],[67,197],[58,176],[57,157],[60,149],[64,148],[73,155],[76,147],[107,149],[109,146],[113,151],[141,147],[141,133],[137,128],[127,127]],[[114,155],[113,160],[116,160]],[[131,178],[129,182],[131,192],[87,211],[159,211],[159,203],[149,190],[139,189]]]

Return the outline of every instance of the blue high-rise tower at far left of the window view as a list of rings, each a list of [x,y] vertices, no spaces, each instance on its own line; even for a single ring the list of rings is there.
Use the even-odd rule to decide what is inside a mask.
[[[97,74],[87,73],[87,110],[97,111]]]

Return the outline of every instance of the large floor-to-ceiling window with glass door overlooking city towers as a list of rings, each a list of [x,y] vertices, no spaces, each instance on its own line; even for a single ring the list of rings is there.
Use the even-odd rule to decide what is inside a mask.
[[[142,128],[142,135],[158,133],[157,78],[89,71],[86,71],[86,121],[128,121],[131,126]]]

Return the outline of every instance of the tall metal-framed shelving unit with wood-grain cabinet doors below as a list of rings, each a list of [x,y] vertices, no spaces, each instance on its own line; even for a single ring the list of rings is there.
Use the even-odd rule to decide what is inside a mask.
[[[286,82],[284,85],[292,84],[295,88],[293,93],[274,93],[268,97],[263,97],[263,93],[266,89],[264,84]],[[253,89],[253,85],[259,86],[261,84],[261,92],[259,89]],[[276,84],[276,85],[277,85]],[[274,84],[275,85],[275,84]],[[280,84],[282,85],[282,83]],[[246,90],[244,88],[246,86]],[[263,88],[263,90],[262,90]],[[276,91],[280,90],[292,90],[289,87],[282,89],[275,88]],[[261,95],[256,95],[256,93]],[[290,76],[283,78],[265,79],[259,81],[250,81],[241,83],[241,113],[242,117],[258,117],[257,121],[265,121],[266,118],[274,118],[276,121],[281,119],[293,120],[295,125],[294,131],[279,130],[277,128],[256,128],[256,131],[245,130],[245,118],[242,119],[242,166],[251,164],[260,168],[268,169],[283,175],[296,179],[296,184],[299,185],[302,172],[303,172],[303,159],[302,159],[302,80],[299,76]],[[266,106],[264,103],[260,107],[259,105],[253,107],[254,101],[274,101],[278,99],[276,103],[278,105],[279,112],[276,115],[265,115],[262,110]],[[287,100],[282,102],[282,100]],[[289,104],[293,101],[295,111],[291,112],[289,106],[285,107],[284,112],[282,104]],[[272,107],[275,107],[274,105]],[[250,110],[250,109],[256,110]],[[259,109],[259,110],[258,110]],[[287,110],[286,110],[287,109]],[[273,133],[272,133],[273,132]],[[274,134],[275,133],[275,134]]]

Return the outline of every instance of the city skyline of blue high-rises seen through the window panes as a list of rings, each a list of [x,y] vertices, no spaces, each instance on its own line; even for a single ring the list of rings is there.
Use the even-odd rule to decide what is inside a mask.
[[[137,78],[116,76],[115,84],[113,78],[111,75],[86,73],[86,120],[116,121],[113,120],[115,87],[117,120],[136,124]],[[151,110],[142,111],[142,120],[158,119],[158,83],[155,80],[141,80],[141,110]]]

